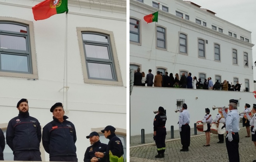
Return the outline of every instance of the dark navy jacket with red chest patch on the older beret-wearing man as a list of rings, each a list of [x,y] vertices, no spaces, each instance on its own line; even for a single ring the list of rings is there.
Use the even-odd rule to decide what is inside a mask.
[[[61,123],[54,116],[53,121],[43,127],[43,147],[53,156],[76,156],[76,129],[73,123],[63,116]]]

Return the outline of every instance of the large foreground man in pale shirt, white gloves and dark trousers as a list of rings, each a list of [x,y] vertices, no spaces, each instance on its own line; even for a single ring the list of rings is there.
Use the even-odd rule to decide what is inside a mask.
[[[226,119],[226,147],[230,162],[240,162],[239,159],[239,114],[237,112],[238,100],[229,100],[229,112],[222,108],[223,116]]]

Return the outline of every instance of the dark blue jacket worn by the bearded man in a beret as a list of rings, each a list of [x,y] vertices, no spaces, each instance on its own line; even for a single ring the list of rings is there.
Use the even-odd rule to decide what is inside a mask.
[[[41,126],[36,118],[29,113],[19,113],[8,123],[6,130],[6,143],[13,152],[19,150],[40,151]]]

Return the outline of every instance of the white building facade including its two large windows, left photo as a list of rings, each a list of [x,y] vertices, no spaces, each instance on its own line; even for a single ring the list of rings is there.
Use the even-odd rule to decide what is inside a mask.
[[[32,7],[40,2],[0,0],[2,130],[18,115],[21,98],[42,127],[52,121],[50,107],[61,102],[76,127],[78,161],[90,146],[85,136],[107,125],[126,151],[126,1],[69,0],[67,15],[35,21]],[[12,156],[6,145],[5,160]]]

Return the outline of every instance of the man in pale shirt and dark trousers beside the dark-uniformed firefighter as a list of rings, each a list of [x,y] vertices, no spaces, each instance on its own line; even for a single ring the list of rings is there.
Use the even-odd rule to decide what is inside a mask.
[[[182,143],[182,149],[180,151],[189,151],[190,146],[190,115],[187,111],[187,104],[182,104],[182,112],[179,116],[179,130],[180,130],[180,140]]]

